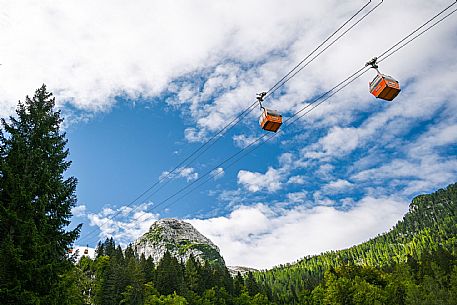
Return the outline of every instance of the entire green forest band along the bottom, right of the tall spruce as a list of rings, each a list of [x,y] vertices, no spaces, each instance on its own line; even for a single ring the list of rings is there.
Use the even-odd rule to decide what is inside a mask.
[[[457,304],[456,202],[453,184],[366,243],[234,278],[169,253],[155,266],[110,239],[76,265],[79,289],[94,304]]]

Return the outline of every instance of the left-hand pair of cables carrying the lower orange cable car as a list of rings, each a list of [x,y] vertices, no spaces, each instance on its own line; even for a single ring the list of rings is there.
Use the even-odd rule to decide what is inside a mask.
[[[323,42],[321,42],[304,59],[302,59],[292,70],[290,70],[273,87],[271,87],[267,91],[268,95],[273,94],[276,90],[278,90],[280,87],[282,87],[291,78],[296,76],[307,65],[309,65],[311,62],[313,62],[323,52],[325,52],[328,48],[330,48],[333,44],[335,44],[338,40],[340,40],[344,35],[346,35],[352,28],[354,28],[363,19],[365,19],[369,14],[371,14],[376,8],[378,8],[379,5],[381,5],[383,1],[384,0],[381,0],[375,7],[373,7],[371,10],[369,10],[367,13],[365,13],[354,24],[352,24],[348,29],[346,29],[342,34],[340,34],[337,38],[335,38],[333,41],[331,41],[329,45],[327,45],[324,49],[322,49],[320,52],[318,52],[316,55],[314,55],[325,43],[327,43],[331,38],[333,38],[336,34],[338,34],[338,32],[340,32],[346,25],[348,25],[349,22],[351,22],[355,17],[357,17],[372,2],[372,0],[365,3],[348,20],[346,20],[341,26],[339,26],[330,36],[328,36]],[[313,57],[309,61],[307,61],[311,56],[313,56]],[[305,61],[307,61],[307,62],[305,63]],[[305,63],[305,64],[303,65],[303,63]],[[160,177],[155,183],[153,183],[148,189],[146,189],[144,192],[142,192],[140,195],[138,195],[134,200],[129,202],[125,207],[132,206],[139,199],[141,199],[146,194],[148,194],[152,189],[154,189],[157,185],[161,184],[161,186],[156,188],[156,190],[153,191],[153,193],[150,194],[149,197],[156,194],[160,189],[162,189],[166,184],[168,184],[168,182],[170,182],[172,178],[174,178],[176,175],[178,175],[181,172],[181,168],[183,166],[191,164],[193,161],[195,161],[197,158],[199,158],[203,153],[205,153],[208,149],[210,149],[223,135],[225,135],[229,130],[231,130],[234,126],[236,126],[238,123],[240,123],[244,117],[246,117],[249,113],[251,113],[255,109],[255,106],[257,104],[258,104],[258,101],[255,101],[250,106],[248,106],[246,109],[244,109],[240,114],[238,114],[236,117],[234,117],[228,124],[226,124],[224,127],[222,127],[218,132],[216,132],[216,134],[211,136],[202,145],[200,145],[196,150],[194,150],[192,153],[190,153],[185,159],[183,159],[181,162],[179,162],[170,172],[168,172],[166,175]],[[165,181],[165,180],[167,180],[167,181]],[[165,181],[165,183],[162,183],[164,181]],[[144,201],[147,201],[147,200],[144,200]],[[132,209],[129,212],[129,214],[135,210],[136,210],[136,208]],[[113,215],[108,217],[108,219],[104,223],[102,223],[101,226],[107,224],[109,220],[112,220],[113,218],[119,216],[121,213],[122,213],[122,211],[118,211],[118,212],[114,213]],[[95,231],[96,231],[96,229],[90,231],[85,236],[83,236],[81,239],[87,238],[89,235],[92,235]]]

